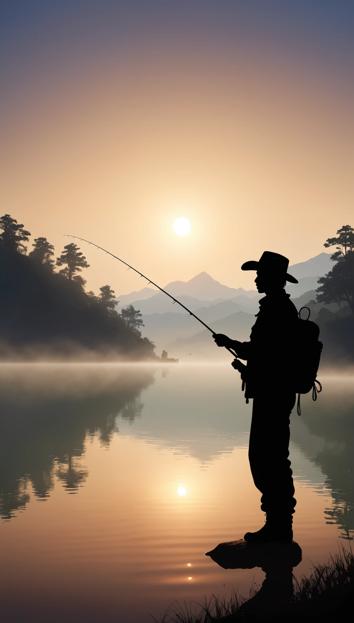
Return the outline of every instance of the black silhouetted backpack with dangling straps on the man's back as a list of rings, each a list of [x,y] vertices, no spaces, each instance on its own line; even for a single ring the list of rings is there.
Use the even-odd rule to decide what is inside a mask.
[[[308,310],[309,315],[306,320],[301,318],[302,310]],[[299,310],[299,324],[296,336],[296,365],[294,367],[294,386],[297,397],[297,415],[301,415],[300,394],[307,394],[312,389],[312,400],[317,400],[317,393],[322,391],[320,381],[317,381],[317,370],[319,369],[320,356],[323,348],[319,341],[320,328],[315,322],[309,320],[309,307],[302,307]],[[319,388],[317,389],[316,383]]]

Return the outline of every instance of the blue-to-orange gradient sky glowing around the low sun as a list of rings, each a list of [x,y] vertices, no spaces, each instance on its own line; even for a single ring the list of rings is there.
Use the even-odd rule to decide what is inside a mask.
[[[2,214],[162,287],[314,257],[354,222],[353,27],[352,0],[0,0]],[[80,247],[88,289],[147,285]]]

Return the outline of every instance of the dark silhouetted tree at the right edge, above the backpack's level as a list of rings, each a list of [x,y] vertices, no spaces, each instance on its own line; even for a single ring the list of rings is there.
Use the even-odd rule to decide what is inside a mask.
[[[317,303],[340,303],[345,301],[354,313],[354,230],[350,225],[338,229],[337,238],[328,238],[326,248],[337,245],[337,251],[331,255],[336,262],[333,269],[319,278]]]

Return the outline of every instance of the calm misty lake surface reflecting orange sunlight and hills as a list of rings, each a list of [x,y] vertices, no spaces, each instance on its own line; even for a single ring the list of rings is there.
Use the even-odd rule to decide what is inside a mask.
[[[319,376],[291,423],[297,577],[354,530],[353,378]],[[0,402],[2,621],[135,623],[263,581],[204,556],[264,522],[230,365],[2,364]]]

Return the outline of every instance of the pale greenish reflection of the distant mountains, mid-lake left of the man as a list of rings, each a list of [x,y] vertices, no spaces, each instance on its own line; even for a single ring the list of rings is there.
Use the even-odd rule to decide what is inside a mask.
[[[252,406],[234,372],[231,366],[165,366],[144,400],[144,430],[119,416],[120,434],[193,457],[207,468],[248,443]]]

